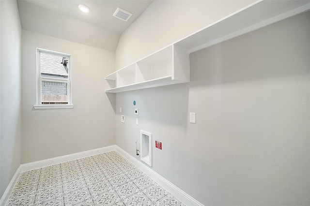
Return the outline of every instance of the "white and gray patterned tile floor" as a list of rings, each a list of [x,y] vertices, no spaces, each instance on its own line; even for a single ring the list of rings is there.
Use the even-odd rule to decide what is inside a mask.
[[[185,206],[111,151],[23,172],[6,206]]]

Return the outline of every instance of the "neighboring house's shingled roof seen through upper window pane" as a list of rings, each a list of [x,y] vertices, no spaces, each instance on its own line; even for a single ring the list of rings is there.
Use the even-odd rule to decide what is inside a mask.
[[[41,74],[68,77],[66,67],[62,64],[62,57],[41,52],[40,53]]]

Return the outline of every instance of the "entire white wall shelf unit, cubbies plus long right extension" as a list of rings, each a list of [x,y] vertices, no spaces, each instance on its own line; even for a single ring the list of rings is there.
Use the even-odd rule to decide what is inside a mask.
[[[189,82],[189,54],[310,10],[310,0],[258,0],[105,78],[116,93]]]

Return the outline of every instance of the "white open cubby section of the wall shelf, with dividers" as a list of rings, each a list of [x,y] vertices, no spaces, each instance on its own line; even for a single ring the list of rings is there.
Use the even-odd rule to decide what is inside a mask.
[[[109,93],[189,82],[189,54],[172,44],[105,79],[116,82],[115,88],[105,91]]]

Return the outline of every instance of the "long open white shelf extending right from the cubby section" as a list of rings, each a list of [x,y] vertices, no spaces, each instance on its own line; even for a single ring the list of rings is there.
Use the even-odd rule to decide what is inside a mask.
[[[310,0],[258,0],[174,43],[189,53],[310,10]]]

